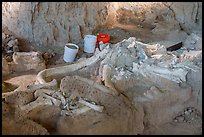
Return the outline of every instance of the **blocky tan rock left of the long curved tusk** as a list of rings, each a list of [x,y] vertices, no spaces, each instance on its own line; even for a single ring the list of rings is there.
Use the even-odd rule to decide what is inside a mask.
[[[34,70],[39,72],[46,68],[45,61],[40,52],[15,52],[13,54],[14,68],[16,72]]]

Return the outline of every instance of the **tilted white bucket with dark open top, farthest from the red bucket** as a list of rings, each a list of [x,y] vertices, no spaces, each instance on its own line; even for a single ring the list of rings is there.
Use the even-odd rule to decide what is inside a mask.
[[[73,43],[67,43],[64,47],[64,61],[72,63],[76,57],[79,47]]]

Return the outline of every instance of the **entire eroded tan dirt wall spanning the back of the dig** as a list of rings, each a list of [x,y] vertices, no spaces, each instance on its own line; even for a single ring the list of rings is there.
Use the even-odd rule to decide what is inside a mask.
[[[148,10],[147,10],[148,9]],[[83,42],[102,24],[178,22],[190,34],[202,28],[201,2],[3,2],[2,29],[12,31],[21,45],[62,52],[65,43]],[[171,24],[171,23],[170,23]],[[175,23],[174,23],[175,24]],[[178,25],[176,26],[176,28]]]

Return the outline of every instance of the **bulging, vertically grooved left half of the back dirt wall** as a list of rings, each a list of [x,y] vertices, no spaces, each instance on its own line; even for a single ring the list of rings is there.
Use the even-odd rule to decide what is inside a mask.
[[[98,24],[105,23],[108,5],[80,2],[4,3],[2,25],[41,52],[47,51],[49,46],[55,46],[57,51],[63,49],[66,42],[77,44],[83,35],[91,34]],[[10,12],[8,7],[16,8]],[[56,19],[54,22],[53,18]]]

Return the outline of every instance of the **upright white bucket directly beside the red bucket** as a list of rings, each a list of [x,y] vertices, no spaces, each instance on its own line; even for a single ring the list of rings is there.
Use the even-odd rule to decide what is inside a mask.
[[[84,52],[94,53],[96,47],[97,37],[95,35],[85,35],[84,38]]]

